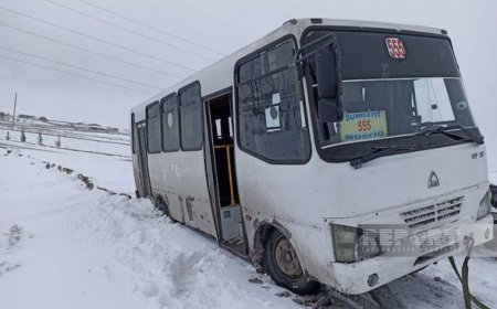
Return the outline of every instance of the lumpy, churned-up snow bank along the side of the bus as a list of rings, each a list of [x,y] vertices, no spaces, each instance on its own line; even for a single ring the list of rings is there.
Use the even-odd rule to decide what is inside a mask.
[[[213,238],[160,216],[148,200],[102,196],[75,224],[81,239],[114,248],[112,267],[128,276],[128,290],[152,308],[298,307],[275,297],[283,289]]]

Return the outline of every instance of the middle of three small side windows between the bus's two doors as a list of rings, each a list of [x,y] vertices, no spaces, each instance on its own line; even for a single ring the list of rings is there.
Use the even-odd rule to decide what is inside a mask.
[[[178,96],[171,94],[161,100],[162,111],[162,150],[179,150],[179,105]]]

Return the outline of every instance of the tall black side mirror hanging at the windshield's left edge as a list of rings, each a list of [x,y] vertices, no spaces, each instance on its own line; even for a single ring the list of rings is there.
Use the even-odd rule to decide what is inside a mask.
[[[316,52],[318,116],[322,122],[339,122],[343,119],[339,56],[334,45],[325,45]]]

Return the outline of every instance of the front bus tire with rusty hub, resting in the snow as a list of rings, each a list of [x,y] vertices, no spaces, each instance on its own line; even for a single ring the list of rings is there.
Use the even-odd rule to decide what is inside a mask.
[[[316,294],[321,287],[304,274],[294,247],[277,230],[269,231],[264,249],[264,269],[278,286],[298,295]]]

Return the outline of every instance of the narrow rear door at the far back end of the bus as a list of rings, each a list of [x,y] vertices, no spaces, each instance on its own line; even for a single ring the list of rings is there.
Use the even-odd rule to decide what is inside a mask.
[[[150,175],[148,172],[147,154],[147,125],[145,121],[136,124],[136,153],[137,153],[137,196],[151,196]]]

